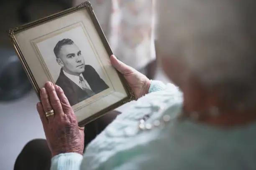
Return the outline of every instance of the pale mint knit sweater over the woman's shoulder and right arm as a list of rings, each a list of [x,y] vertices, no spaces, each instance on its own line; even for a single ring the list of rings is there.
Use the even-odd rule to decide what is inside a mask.
[[[233,170],[240,170],[239,167],[250,158],[254,160],[256,124],[220,130],[187,120],[178,121],[175,117],[181,108],[182,93],[174,88],[140,98],[88,145],[81,169],[210,170],[236,167]],[[171,120],[153,127],[154,122],[164,115],[169,115]],[[145,123],[151,126],[141,130],[140,120],[145,116]],[[249,164],[255,169],[255,161]]]

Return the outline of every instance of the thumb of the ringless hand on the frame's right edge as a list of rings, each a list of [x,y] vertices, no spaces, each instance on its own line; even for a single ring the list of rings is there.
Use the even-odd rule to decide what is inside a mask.
[[[128,74],[134,71],[132,67],[118,60],[115,55],[110,56],[110,62],[121,74]]]

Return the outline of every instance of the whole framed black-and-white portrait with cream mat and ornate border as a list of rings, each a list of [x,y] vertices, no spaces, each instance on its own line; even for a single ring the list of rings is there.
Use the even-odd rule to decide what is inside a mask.
[[[90,2],[10,29],[9,36],[38,97],[46,81],[59,85],[79,126],[135,99],[110,64],[113,52]]]

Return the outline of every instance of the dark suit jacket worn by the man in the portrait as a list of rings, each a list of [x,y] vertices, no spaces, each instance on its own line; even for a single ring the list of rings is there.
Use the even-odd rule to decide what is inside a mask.
[[[95,92],[95,94],[109,88],[91,65],[85,65],[82,75],[90,85],[92,91]],[[62,68],[55,84],[62,88],[69,100],[70,105],[75,105],[78,102],[81,102],[90,97],[87,95],[87,92],[82,90],[76,83],[64,75]]]

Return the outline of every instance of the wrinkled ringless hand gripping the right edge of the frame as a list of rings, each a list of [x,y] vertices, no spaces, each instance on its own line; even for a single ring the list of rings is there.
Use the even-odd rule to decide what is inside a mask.
[[[129,86],[133,90],[136,99],[148,93],[151,81],[145,75],[124,64],[114,55],[110,56],[110,62],[116,70],[124,75]]]

